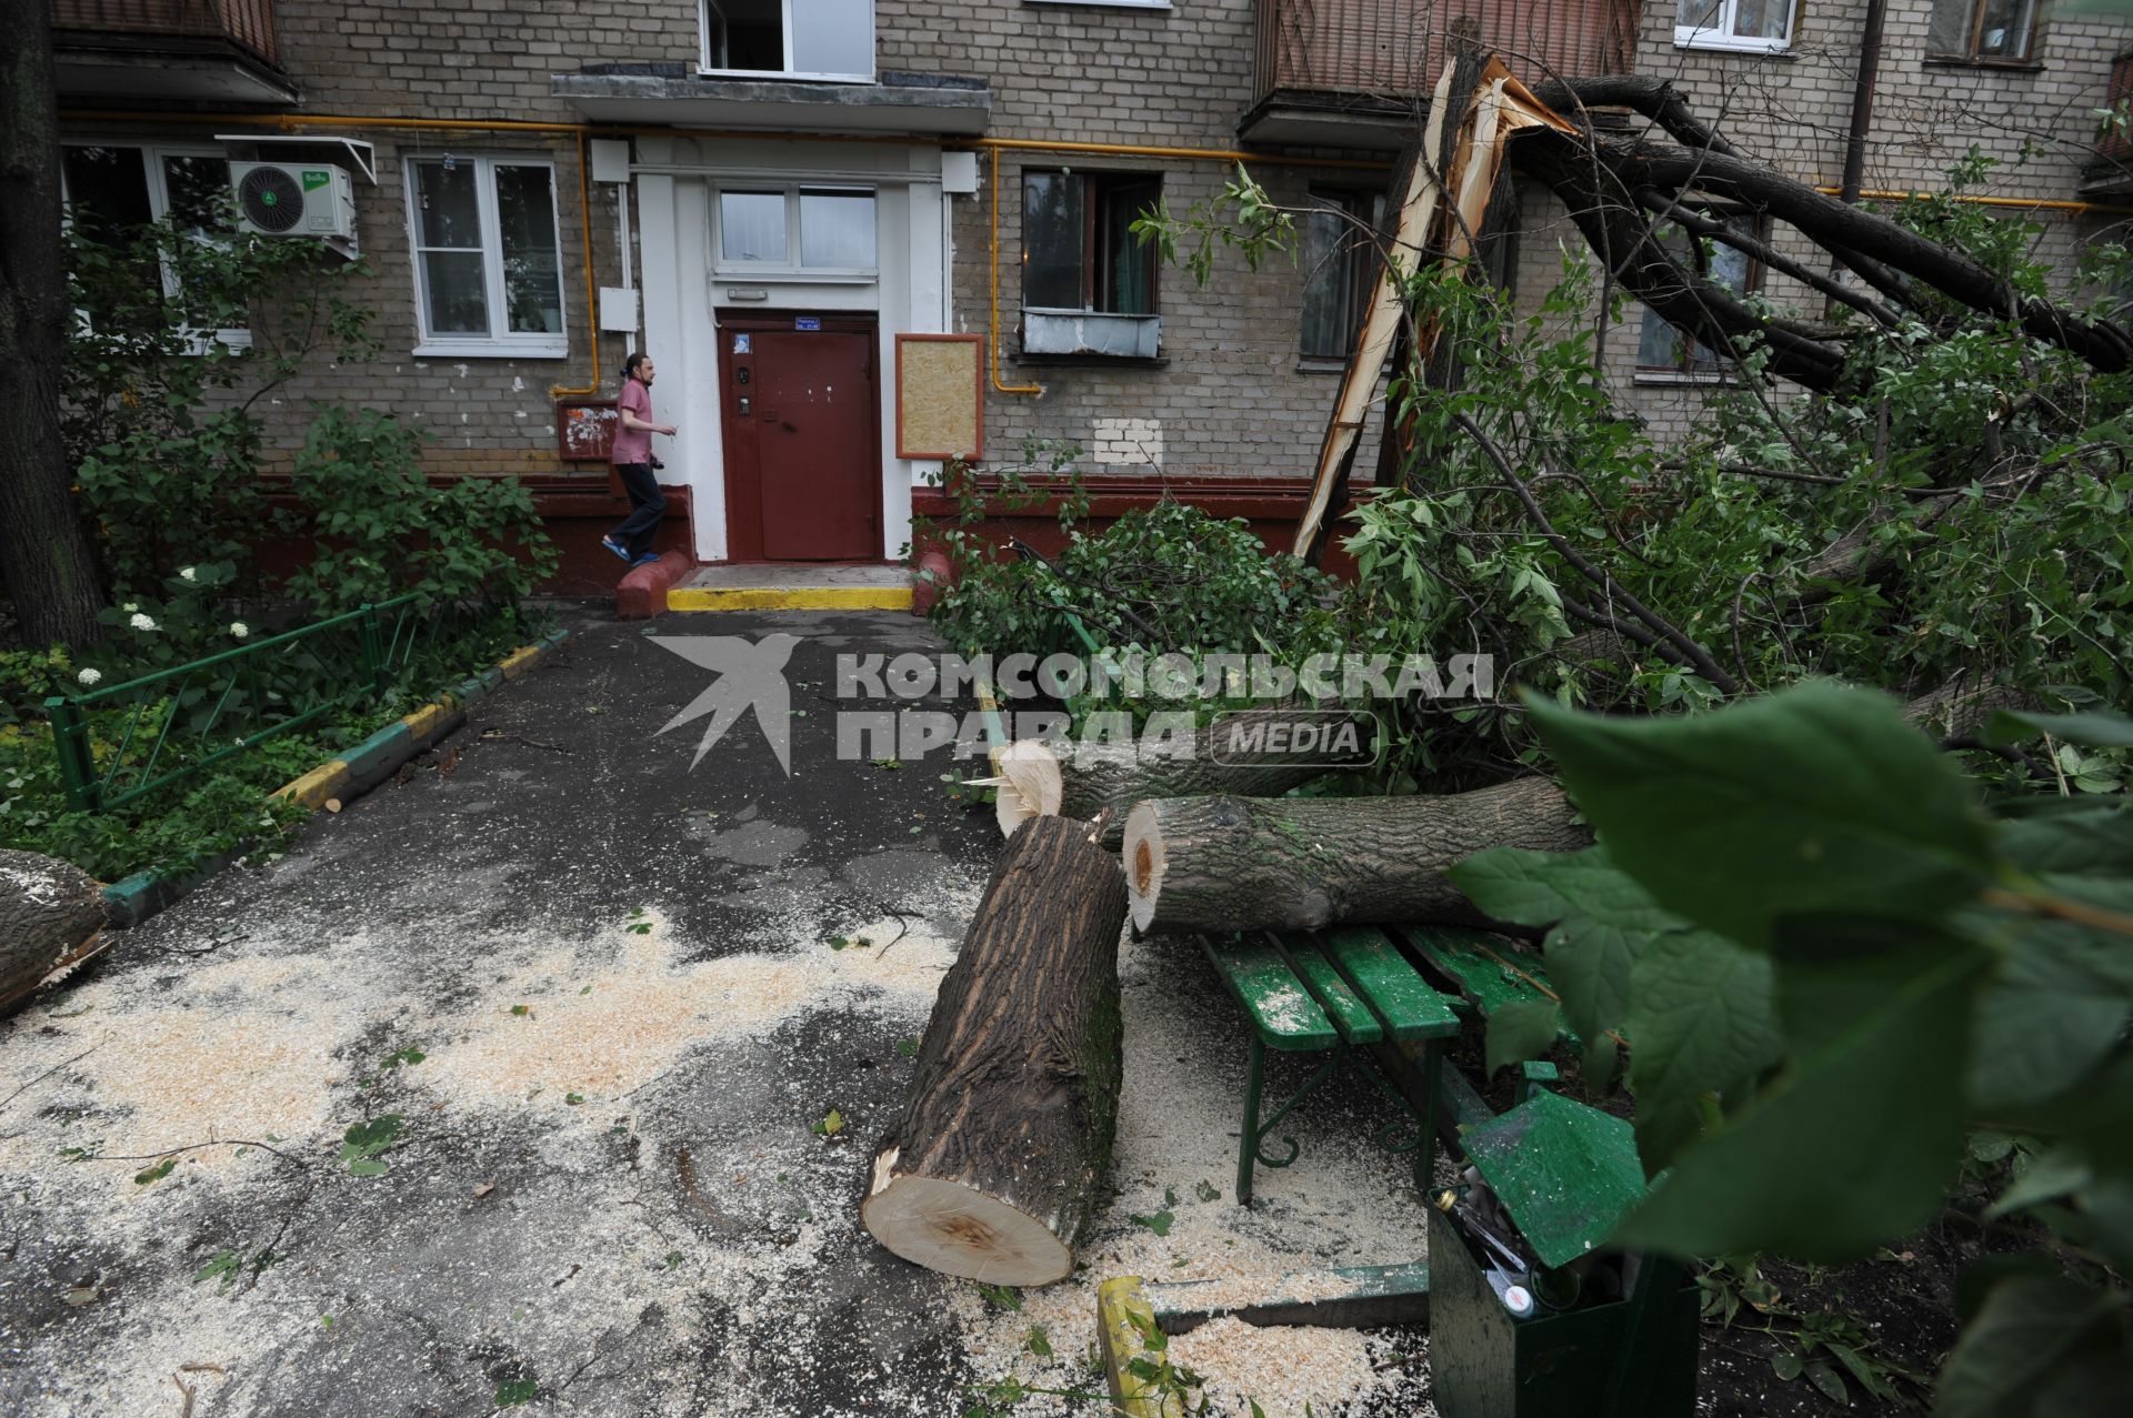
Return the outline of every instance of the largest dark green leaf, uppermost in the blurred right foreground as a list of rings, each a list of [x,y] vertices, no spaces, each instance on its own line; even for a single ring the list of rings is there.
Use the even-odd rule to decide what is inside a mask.
[[[1529,710],[1608,855],[1700,925],[1766,947],[1781,915],[1939,919],[1988,881],[1988,823],[1892,699],[1800,684],[1713,714]]]

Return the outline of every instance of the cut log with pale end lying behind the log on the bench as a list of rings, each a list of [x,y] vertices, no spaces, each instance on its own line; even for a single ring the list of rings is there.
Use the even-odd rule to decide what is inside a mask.
[[[1269,738],[1269,729],[1284,731]],[[1312,734],[1288,729],[1310,725]],[[1220,714],[1190,740],[1139,744],[1073,744],[1060,755],[1043,742],[1017,740],[996,761],[1000,832],[1013,834],[1030,817],[1077,817],[1103,825],[1103,844],[1118,847],[1126,812],[1145,797],[1194,797],[1222,791],[1233,797],[1280,797],[1329,770],[1327,731],[1352,725],[1357,766],[1372,761],[1376,723],[1327,710],[1256,708]],[[1342,740],[1346,742],[1346,740]],[[1278,744],[1278,746],[1269,746]],[[1045,806],[1049,804],[1049,806]]]

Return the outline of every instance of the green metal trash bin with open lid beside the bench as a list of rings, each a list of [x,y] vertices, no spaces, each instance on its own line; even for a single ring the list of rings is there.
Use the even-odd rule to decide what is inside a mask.
[[[1630,1124],[1536,1092],[1465,1134],[1480,1186],[1429,1211],[1442,1418],[1691,1418],[1698,1292],[1604,1247],[1645,1196]]]

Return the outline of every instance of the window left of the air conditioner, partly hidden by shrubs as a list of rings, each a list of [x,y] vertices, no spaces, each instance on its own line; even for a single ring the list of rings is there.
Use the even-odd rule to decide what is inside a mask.
[[[213,147],[66,145],[60,190],[68,222],[92,239],[117,239],[128,226],[164,217],[194,241],[224,241],[228,232],[230,160]],[[179,294],[169,267],[162,294]],[[196,337],[205,341],[207,333]],[[213,339],[241,348],[252,343],[252,331],[215,331]]]

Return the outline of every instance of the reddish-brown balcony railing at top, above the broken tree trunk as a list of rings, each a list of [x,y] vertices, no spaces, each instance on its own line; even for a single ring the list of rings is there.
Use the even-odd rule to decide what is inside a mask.
[[[1450,36],[1474,36],[1514,75],[1627,72],[1636,0],[1256,0],[1256,98],[1280,92],[1427,94]]]

